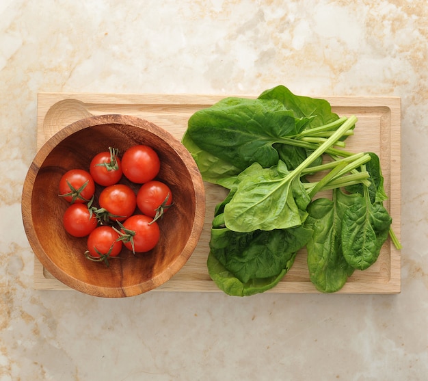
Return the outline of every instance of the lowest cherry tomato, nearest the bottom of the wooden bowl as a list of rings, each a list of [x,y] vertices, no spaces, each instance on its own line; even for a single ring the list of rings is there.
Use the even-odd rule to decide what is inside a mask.
[[[88,254],[90,258],[116,257],[122,250],[119,234],[111,226],[103,225],[90,233],[88,237]]]

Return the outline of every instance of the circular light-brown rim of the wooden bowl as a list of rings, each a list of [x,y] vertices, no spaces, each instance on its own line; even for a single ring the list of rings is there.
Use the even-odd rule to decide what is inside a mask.
[[[36,177],[46,157],[53,151],[53,149],[70,135],[88,129],[90,127],[103,125],[103,124],[126,124],[131,127],[138,127],[145,129],[146,131],[153,133],[160,137],[162,140],[168,142],[170,147],[176,152],[181,158],[186,159],[186,166],[189,175],[191,177],[192,188],[195,195],[195,218],[193,218],[193,224],[189,239],[187,240],[183,251],[180,253],[172,263],[165,268],[165,270],[151,278],[138,283],[136,285],[128,285],[122,287],[109,287],[109,286],[98,286],[86,283],[83,280],[79,280],[74,276],[64,272],[60,267],[57,267],[55,263],[50,259],[49,255],[46,254],[42,244],[40,243],[36,231],[34,229],[33,218],[32,218],[32,199],[33,189],[36,181]],[[42,147],[38,150],[34,159],[31,161],[25,181],[23,185],[23,192],[21,195],[21,215],[23,218],[23,224],[27,239],[38,260],[42,263],[43,267],[46,268],[55,278],[59,281],[77,291],[87,293],[89,295],[101,296],[105,298],[122,298],[139,295],[147,291],[151,291],[167,282],[174,274],[176,274],[184,265],[187,263],[191,254],[193,253],[196,245],[198,244],[200,235],[202,234],[202,228],[204,226],[205,217],[205,191],[202,175],[198,169],[196,162],[194,161],[191,153],[185,148],[185,146],[170,132],[166,131],[157,124],[150,122],[149,120],[139,118],[137,116],[129,116],[123,114],[103,114],[99,116],[90,116],[83,118],[68,124],[66,127],[60,129],[52,135]]]

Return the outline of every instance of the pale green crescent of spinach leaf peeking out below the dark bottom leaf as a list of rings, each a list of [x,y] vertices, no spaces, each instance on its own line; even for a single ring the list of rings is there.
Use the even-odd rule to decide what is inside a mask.
[[[270,278],[255,278],[247,283],[242,283],[234,274],[226,270],[213,254],[208,255],[206,266],[208,267],[209,275],[219,289],[232,296],[250,296],[256,293],[262,293],[278,285],[284,277],[293,262],[288,264],[288,267],[282,270],[278,275]]]

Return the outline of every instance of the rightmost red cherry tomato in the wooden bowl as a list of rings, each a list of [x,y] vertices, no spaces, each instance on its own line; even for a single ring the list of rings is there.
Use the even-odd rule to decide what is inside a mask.
[[[172,205],[170,187],[161,181],[148,181],[137,192],[137,206],[143,214],[156,220]]]

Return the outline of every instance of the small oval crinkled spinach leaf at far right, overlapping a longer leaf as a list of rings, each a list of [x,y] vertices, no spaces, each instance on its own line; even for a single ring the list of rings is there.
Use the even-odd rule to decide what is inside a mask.
[[[371,203],[369,189],[344,213],[342,221],[343,256],[349,265],[366,270],[379,257],[388,238],[392,218],[382,203]]]

